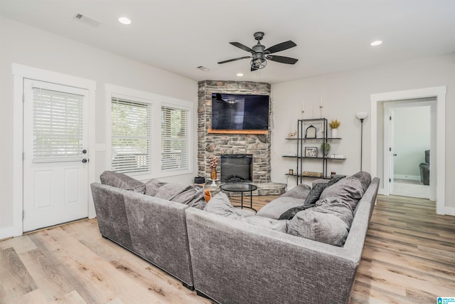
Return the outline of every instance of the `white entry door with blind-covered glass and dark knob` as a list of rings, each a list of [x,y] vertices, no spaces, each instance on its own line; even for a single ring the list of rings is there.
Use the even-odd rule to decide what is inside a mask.
[[[87,96],[24,80],[24,232],[88,216]]]

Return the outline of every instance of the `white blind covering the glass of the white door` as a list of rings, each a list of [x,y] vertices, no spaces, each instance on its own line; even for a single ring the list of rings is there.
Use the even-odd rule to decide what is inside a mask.
[[[33,88],[33,162],[82,158],[83,98]]]

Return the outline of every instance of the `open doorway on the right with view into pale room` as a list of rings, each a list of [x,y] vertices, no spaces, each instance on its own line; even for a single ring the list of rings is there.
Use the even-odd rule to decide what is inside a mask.
[[[431,107],[435,103],[435,98],[384,103],[389,194],[430,199]]]

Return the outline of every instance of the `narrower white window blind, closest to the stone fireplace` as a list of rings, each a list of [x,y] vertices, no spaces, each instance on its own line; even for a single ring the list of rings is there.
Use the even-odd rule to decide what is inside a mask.
[[[189,169],[188,110],[161,107],[161,169]]]

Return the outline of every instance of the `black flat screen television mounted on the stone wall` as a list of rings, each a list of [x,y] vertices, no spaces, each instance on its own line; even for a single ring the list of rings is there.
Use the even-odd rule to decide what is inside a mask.
[[[269,95],[212,93],[212,130],[268,130]]]

